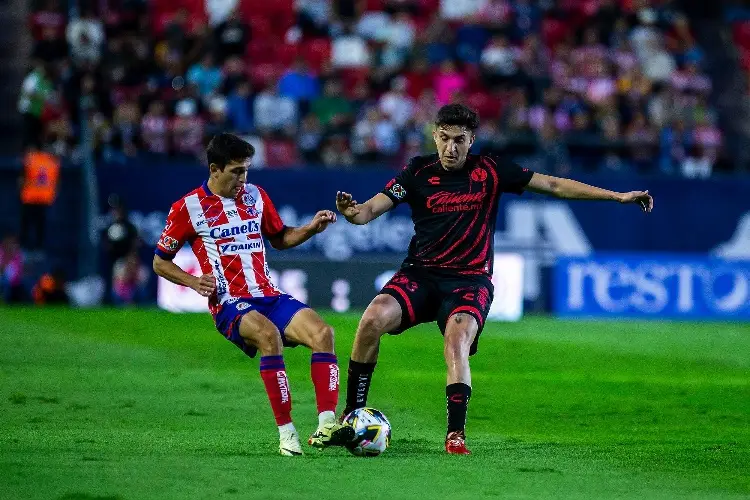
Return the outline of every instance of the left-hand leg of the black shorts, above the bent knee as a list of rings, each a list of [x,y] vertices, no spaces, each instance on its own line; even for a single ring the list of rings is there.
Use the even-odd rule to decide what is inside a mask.
[[[380,291],[399,305],[401,318],[398,324],[388,325],[386,333],[398,335],[412,326],[435,321],[439,302],[437,285],[425,272],[404,269],[393,275]],[[385,299],[383,299],[385,302]],[[392,304],[392,301],[388,301]],[[372,305],[372,304],[371,304]]]

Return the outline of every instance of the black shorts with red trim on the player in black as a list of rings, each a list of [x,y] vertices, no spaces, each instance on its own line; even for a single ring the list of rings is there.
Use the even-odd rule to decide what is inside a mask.
[[[420,323],[437,321],[440,333],[453,314],[470,314],[479,330],[469,352],[477,352],[479,334],[490,311],[494,286],[486,276],[461,276],[424,267],[405,267],[393,275],[380,293],[390,295],[401,306],[401,324],[391,332],[398,335]]]

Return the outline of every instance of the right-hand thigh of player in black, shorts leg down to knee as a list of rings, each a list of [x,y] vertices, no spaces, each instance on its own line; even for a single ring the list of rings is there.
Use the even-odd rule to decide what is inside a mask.
[[[438,326],[445,335],[446,346],[469,345],[469,354],[477,352],[479,336],[492,304],[492,284],[484,280],[443,287],[438,312]]]

